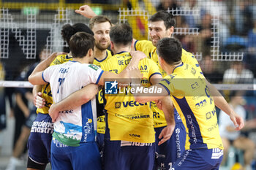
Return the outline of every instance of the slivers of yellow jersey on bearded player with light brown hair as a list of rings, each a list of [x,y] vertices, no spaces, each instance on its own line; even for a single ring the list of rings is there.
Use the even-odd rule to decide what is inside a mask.
[[[94,65],[99,66],[100,64],[108,60],[110,57],[112,57],[112,54],[110,50],[106,51],[106,57],[99,61],[97,58],[94,58]],[[105,113],[104,113],[104,101],[103,101],[103,92],[102,90],[99,90],[99,93],[97,93],[97,133],[99,134],[105,134]]]

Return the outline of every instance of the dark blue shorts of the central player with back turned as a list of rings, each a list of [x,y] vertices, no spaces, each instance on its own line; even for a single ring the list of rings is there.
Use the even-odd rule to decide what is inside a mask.
[[[103,152],[105,170],[151,170],[154,166],[154,143],[105,140]]]

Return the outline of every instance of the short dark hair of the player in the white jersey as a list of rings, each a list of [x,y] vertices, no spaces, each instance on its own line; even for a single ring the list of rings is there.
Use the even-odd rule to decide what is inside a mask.
[[[78,32],[71,36],[69,48],[73,58],[83,58],[90,49],[94,50],[94,36]]]

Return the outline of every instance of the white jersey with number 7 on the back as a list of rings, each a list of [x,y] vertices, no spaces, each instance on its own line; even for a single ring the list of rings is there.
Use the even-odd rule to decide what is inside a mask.
[[[42,72],[42,79],[50,82],[53,102],[57,103],[90,83],[97,84],[103,71],[98,66],[68,61],[50,66]],[[96,101],[93,98],[81,107],[60,112],[54,123],[53,137],[68,146],[94,142],[97,131]]]

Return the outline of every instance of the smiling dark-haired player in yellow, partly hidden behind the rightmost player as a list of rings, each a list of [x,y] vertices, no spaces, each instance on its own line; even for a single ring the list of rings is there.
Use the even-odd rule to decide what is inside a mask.
[[[173,34],[175,26],[175,20],[170,15],[170,13],[165,11],[159,11],[151,16],[148,20],[148,35],[151,38],[151,41],[143,40],[143,41],[137,41],[135,40],[134,47],[135,50],[140,50],[143,53],[145,53],[148,58],[151,58],[153,61],[157,63],[159,66],[159,69],[162,70],[163,77],[165,77],[166,73],[165,70],[161,68],[159,65],[159,58],[157,55],[157,43],[160,39],[165,37],[170,37]],[[197,72],[200,72],[203,74],[203,72],[200,69],[199,63],[197,62],[197,59],[195,58],[192,53],[188,53],[186,50],[182,49],[182,55],[181,55],[181,61],[183,63],[188,63],[189,65],[193,66]],[[214,98],[214,102],[219,109],[222,109],[227,114],[233,114],[235,113],[234,110],[227,104],[227,101],[225,101],[225,98],[223,98],[222,94],[219,93],[219,91],[211,85],[207,80],[206,83],[208,85],[208,88],[211,92],[211,95]],[[163,116],[163,113],[161,110],[159,110],[157,107],[154,107],[155,104],[153,104],[153,109],[155,109],[157,112],[157,116],[154,117],[155,121],[155,130],[156,130],[156,139],[158,136],[158,131],[162,127],[165,127],[165,119]],[[159,113],[159,115],[158,115]],[[186,135],[182,129],[184,129],[184,126],[181,124],[181,119],[178,115],[178,113],[175,111],[175,120],[176,120],[176,129],[174,130],[173,136],[170,138],[170,144],[166,142],[166,144],[169,145],[169,147],[165,145],[160,145],[157,150],[159,150],[159,155],[165,155],[165,158],[159,158],[158,159],[158,166],[161,166],[164,163],[165,168],[170,167],[171,164],[173,164],[177,158],[180,157],[182,150],[184,150],[184,136]],[[159,129],[158,129],[159,128]],[[178,134],[175,134],[178,132]],[[176,136],[179,136],[179,140],[176,141]],[[177,144],[179,143],[179,145]],[[156,167],[157,168],[157,167]]]

